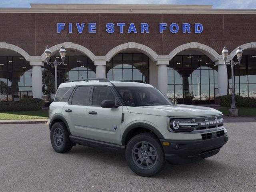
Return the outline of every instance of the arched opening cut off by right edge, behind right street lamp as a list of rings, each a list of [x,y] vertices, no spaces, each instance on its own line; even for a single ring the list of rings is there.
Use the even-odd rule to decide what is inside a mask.
[[[231,54],[230,54],[231,55]],[[237,56],[233,58],[237,62]],[[228,93],[232,92],[231,67],[228,71]],[[256,48],[243,50],[240,65],[234,66],[234,88],[235,93],[244,98],[256,97]]]

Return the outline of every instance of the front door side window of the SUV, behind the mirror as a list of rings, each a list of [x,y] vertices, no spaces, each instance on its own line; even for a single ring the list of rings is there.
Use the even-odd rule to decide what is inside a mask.
[[[101,106],[103,100],[115,101],[115,99],[115,95],[110,88],[105,86],[94,86],[92,105]]]

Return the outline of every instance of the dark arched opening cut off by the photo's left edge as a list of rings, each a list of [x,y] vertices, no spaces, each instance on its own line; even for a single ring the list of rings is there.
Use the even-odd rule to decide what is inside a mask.
[[[0,102],[32,98],[32,66],[26,58],[28,54],[0,49]]]

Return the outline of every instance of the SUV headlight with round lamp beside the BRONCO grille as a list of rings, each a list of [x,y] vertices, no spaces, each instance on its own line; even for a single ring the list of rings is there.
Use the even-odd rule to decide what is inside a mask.
[[[170,121],[170,131],[188,132],[198,125],[192,119],[172,119]]]

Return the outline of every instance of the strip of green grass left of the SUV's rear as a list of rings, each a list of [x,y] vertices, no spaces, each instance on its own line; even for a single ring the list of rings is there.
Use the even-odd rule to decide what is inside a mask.
[[[13,111],[0,112],[0,120],[4,119],[47,119],[49,117],[48,110],[39,111]]]

